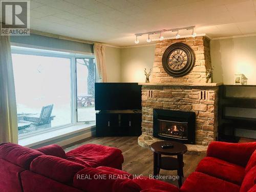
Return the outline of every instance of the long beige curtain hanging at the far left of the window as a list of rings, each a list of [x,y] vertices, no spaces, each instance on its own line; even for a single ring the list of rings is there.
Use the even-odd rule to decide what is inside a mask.
[[[8,36],[0,36],[0,143],[18,142],[17,110]]]

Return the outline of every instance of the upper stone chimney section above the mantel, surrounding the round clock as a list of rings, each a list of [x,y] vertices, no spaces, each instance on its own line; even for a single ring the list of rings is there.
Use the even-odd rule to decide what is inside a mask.
[[[183,77],[172,77],[162,66],[162,56],[167,47],[175,42],[183,42],[190,46],[195,53],[195,66],[191,72]],[[211,67],[210,40],[206,36],[167,39],[158,41],[155,49],[155,61],[151,82],[205,82],[206,69]]]

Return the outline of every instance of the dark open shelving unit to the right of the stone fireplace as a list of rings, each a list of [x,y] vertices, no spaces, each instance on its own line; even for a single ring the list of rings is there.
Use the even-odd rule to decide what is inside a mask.
[[[256,109],[255,88],[256,85],[234,84],[224,84],[220,87],[218,130],[220,141],[238,142],[240,137],[235,136],[235,129],[256,131],[256,118],[253,116]],[[250,97],[246,97],[248,95]],[[243,117],[233,116],[234,113]],[[231,129],[230,135],[226,135],[225,131],[229,129]]]

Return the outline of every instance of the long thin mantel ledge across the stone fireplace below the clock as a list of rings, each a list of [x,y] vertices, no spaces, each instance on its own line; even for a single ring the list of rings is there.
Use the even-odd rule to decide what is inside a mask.
[[[218,87],[222,82],[189,83],[189,82],[139,82],[141,86],[173,86],[173,87]]]

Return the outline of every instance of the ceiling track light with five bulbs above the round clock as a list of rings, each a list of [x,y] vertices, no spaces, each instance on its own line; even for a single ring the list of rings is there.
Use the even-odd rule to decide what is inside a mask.
[[[138,36],[142,36],[142,35],[147,35],[147,39],[146,41],[147,42],[151,42],[151,38],[150,38],[150,35],[155,35],[155,34],[159,34],[160,33],[160,36],[158,39],[153,39],[153,40],[163,40],[164,37],[162,35],[162,33],[164,32],[167,32],[167,31],[170,31],[170,32],[177,32],[175,37],[178,39],[180,38],[180,34],[179,34],[179,31],[180,30],[193,30],[191,34],[191,37],[196,37],[197,36],[197,33],[194,32],[194,29],[195,29],[196,26],[189,26],[189,27],[182,27],[182,28],[176,28],[176,29],[162,29],[162,30],[158,30],[158,31],[151,31],[151,32],[144,32],[144,33],[136,33],[135,36],[136,36],[136,40],[134,41],[135,44],[138,44],[139,43],[139,39],[138,39]],[[185,37],[187,36],[190,36],[190,35],[186,35]],[[172,38],[172,37],[165,37],[165,39],[168,39],[168,38]]]

